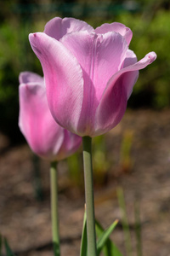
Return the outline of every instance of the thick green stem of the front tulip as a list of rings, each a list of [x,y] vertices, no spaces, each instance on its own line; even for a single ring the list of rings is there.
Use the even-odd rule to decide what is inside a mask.
[[[88,256],[96,256],[96,234],[94,218],[94,181],[92,167],[92,138],[82,137],[84,183],[86,196]]]

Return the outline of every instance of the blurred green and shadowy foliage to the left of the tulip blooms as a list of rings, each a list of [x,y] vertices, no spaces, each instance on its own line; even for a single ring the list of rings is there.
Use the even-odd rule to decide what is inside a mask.
[[[29,31],[25,29],[24,24],[19,26],[15,20],[0,27],[0,130],[13,141],[20,137],[19,73],[26,70],[42,73],[28,42]]]

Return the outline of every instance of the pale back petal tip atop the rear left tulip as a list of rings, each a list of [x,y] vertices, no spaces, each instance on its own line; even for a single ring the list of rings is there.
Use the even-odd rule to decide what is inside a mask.
[[[44,80],[41,76],[39,76],[37,73],[32,72],[21,72],[19,76],[20,84],[26,84],[26,83],[42,83],[44,84]]]

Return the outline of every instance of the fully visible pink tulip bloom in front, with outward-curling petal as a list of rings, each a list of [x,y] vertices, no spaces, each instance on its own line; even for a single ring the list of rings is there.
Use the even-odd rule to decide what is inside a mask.
[[[54,119],[82,137],[101,135],[121,121],[139,69],[156,60],[150,52],[137,61],[128,49],[132,32],[120,23],[94,29],[81,20],[54,18],[29,38]]]

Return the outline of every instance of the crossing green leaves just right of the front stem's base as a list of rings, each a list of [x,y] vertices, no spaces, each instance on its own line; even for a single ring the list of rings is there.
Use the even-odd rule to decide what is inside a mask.
[[[111,232],[115,229],[116,224],[117,220],[113,224],[111,224],[111,226],[107,230],[104,230],[98,221],[95,222],[96,233],[99,237],[99,241],[97,243],[98,256],[101,251],[103,251],[105,256],[122,256],[122,253],[109,238]]]

